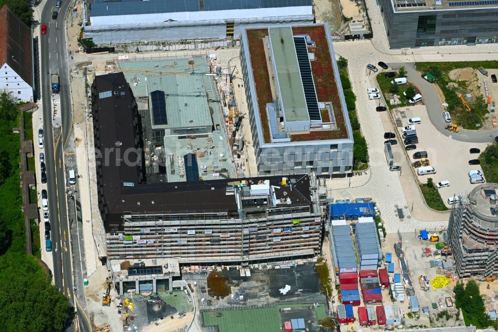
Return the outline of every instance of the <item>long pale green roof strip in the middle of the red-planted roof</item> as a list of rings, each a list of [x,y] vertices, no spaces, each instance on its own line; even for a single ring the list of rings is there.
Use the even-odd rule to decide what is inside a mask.
[[[292,29],[290,26],[271,28],[268,36],[285,121],[309,121]]]

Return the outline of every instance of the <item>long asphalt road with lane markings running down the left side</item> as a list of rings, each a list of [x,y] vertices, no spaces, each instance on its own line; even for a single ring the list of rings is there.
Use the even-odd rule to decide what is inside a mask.
[[[66,194],[66,174],[64,147],[72,131],[72,102],[69,86],[68,50],[65,39],[65,19],[73,1],[62,1],[61,8],[55,7],[56,0],[48,0],[42,10],[41,24],[47,25],[47,33],[40,35],[40,76],[43,94],[43,129],[45,132],[45,164],[47,166],[47,191],[49,201],[51,239],[54,260],[55,286],[64,293],[72,306],[75,306],[73,291],[73,268],[71,260],[70,226]],[[57,19],[52,12],[57,11]],[[61,135],[55,141],[52,121],[54,114],[51,102],[51,74],[60,79],[60,98],[62,118]],[[35,129],[35,132],[37,130]],[[78,308],[79,310],[79,308]],[[80,314],[80,312],[79,312]],[[84,317],[80,317],[83,331],[91,331]],[[76,331],[75,324],[67,331]]]

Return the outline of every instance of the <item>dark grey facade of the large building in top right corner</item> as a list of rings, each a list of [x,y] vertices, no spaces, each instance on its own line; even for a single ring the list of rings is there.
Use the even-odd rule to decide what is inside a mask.
[[[498,42],[498,7],[393,11],[392,0],[379,0],[390,48]],[[417,36],[419,16],[436,15],[433,34]],[[422,45],[424,39],[432,44]],[[483,40],[484,39],[484,40]],[[418,42],[417,42],[418,41]]]

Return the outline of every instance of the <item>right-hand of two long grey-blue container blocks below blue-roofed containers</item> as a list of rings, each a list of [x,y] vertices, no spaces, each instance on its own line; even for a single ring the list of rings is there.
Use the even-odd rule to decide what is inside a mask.
[[[377,270],[381,254],[373,218],[359,218],[355,228],[356,246],[360,257],[360,271]]]

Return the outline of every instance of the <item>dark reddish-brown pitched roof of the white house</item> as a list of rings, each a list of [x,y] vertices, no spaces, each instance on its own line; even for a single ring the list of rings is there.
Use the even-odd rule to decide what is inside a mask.
[[[24,82],[33,86],[31,45],[29,27],[6,4],[3,5],[0,9],[0,62],[6,62]]]

